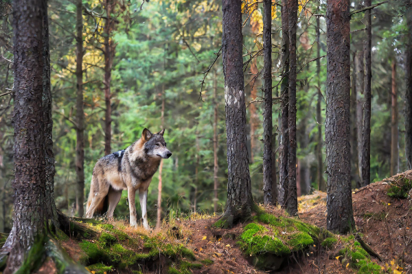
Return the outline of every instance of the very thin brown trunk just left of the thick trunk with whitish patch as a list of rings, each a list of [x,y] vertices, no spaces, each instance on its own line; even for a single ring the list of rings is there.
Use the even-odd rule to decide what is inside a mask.
[[[214,212],[218,211],[218,75],[215,70],[214,80],[213,80],[213,100],[214,100],[214,123],[213,123],[213,156],[214,156],[214,169],[213,169],[213,179],[214,179]],[[252,104],[253,105],[253,104]],[[252,140],[253,136],[251,137]]]

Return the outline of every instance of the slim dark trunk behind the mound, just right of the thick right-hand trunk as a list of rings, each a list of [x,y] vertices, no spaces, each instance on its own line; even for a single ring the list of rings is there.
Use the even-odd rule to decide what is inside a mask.
[[[369,7],[371,0],[365,0]],[[365,105],[363,108],[363,137],[362,137],[362,184],[367,186],[371,181],[371,50],[372,50],[372,28],[371,10],[365,12],[366,34],[365,41]]]

